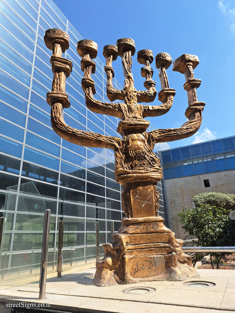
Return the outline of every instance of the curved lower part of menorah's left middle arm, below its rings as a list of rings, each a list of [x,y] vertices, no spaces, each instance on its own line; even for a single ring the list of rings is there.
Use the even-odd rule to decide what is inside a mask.
[[[83,82],[82,82],[82,85],[83,85]],[[120,103],[105,103],[99,100],[95,100],[93,98],[93,94],[94,94],[93,88],[95,88],[94,84],[92,84],[92,87],[91,86],[83,87],[86,106],[88,107],[88,109],[90,109],[92,112],[95,112],[95,113],[116,116],[116,117],[119,117],[120,119],[123,119],[123,111],[122,111],[121,104]]]

